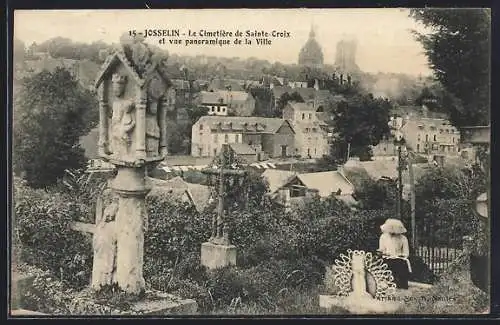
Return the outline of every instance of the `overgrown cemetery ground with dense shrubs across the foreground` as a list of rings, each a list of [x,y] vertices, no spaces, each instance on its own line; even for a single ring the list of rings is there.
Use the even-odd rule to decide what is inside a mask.
[[[97,182],[97,180],[95,180]],[[106,288],[89,290],[91,234],[69,228],[92,222],[93,191],[58,187],[35,190],[15,183],[13,271],[26,276],[17,308],[52,315],[125,314],[134,302]],[[214,207],[198,213],[168,197],[148,197],[144,277],[147,289],[194,299],[204,315],[345,314],[322,310],[325,268],[347,249],[374,251],[378,223],[388,211],[353,212],[334,199],[311,202],[287,214],[267,202],[231,213],[237,266],[207,270],[200,246],[210,236]],[[360,227],[360,224],[364,226]],[[425,264],[412,261],[413,281],[431,282]],[[480,313],[488,297],[467,278],[461,260],[431,287],[399,291],[398,313]],[[99,302],[106,301],[103,307]]]

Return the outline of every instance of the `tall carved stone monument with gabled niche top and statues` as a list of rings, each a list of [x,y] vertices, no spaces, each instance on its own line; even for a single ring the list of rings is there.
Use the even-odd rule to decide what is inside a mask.
[[[92,288],[117,285],[132,296],[148,293],[144,296],[155,301],[155,313],[174,308],[170,295],[146,291],[143,277],[148,222],[145,197],[151,190],[146,171],[167,155],[165,97],[171,82],[164,71],[163,59],[143,39],[122,44],[104,62],[95,84],[98,153],[116,167],[116,176],[108,193],[98,199],[95,224],[72,225],[75,230],[93,233]],[[174,305],[187,304],[196,310],[194,301],[177,300]],[[164,308],[157,306],[159,301]],[[138,303],[149,305],[147,301]]]

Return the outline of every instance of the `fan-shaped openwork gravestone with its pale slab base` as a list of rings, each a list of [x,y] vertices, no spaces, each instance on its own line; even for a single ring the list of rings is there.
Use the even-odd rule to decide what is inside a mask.
[[[330,287],[335,294],[320,295],[320,307],[340,307],[351,314],[394,313],[396,285],[382,258],[371,253],[348,250],[330,269]],[[328,276],[327,276],[328,278]],[[329,288],[330,290],[332,288]]]

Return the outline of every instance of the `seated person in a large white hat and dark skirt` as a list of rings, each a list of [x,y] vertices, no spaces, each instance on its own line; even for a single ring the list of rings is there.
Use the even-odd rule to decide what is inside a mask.
[[[406,228],[400,220],[389,218],[380,229],[382,235],[378,251],[382,253],[384,262],[392,271],[396,287],[408,289],[411,265],[408,260],[410,255],[408,239],[403,235],[406,233]]]

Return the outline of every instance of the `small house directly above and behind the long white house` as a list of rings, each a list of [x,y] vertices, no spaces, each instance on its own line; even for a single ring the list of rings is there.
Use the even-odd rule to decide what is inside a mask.
[[[198,105],[208,107],[209,115],[251,116],[255,110],[255,98],[244,91],[202,91]]]

